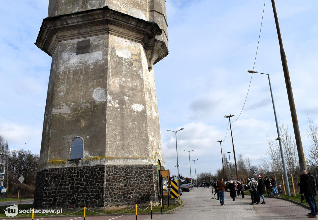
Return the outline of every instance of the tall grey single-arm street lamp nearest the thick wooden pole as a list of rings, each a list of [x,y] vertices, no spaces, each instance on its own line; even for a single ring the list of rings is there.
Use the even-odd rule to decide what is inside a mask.
[[[247,72],[249,72],[249,73],[258,73],[258,72],[255,71],[255,70],[248,70]],[[277,135],[278,135],[278,138],[276,138],[276,140],[278,140],[278,142],[279,142],[280,156],[281,156],[281,161],[282,161],[282,163],[283,163],[283,169],[284,169],[284,176],[285,176],[285,182],[286,182],[287,195],[290,196],[290,189],[289,189],[289,183],[288,183],[288,177],[287,177],[287,170],[286,170],[286,165],[285,165],[283,147],[282,147],[282,145],[281,145],[281,140],[280,140],[280,131],[279,131],[279,126],[278,126],[278,122],[277,122],[277,116],[276,116],[274,98],[273,98],[273,93],[272,93],[271,81],[269,80],[269,74],[266,74],[266,73],[259,73],[259,74],[264,74],[264,75],[267,75],[267,77],[268,77],[269,89],[270,89],[270,91],[271,91],[271,97],[272,97],[272,103],[273,103],[274,117],[275,117],[275,123],[276,123],[276,130],[277,130]]]

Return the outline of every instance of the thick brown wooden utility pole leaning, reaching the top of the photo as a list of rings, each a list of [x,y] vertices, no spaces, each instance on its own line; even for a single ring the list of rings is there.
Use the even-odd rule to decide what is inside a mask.
[[[298,158],[299,158],[299,167],[301,170],[305,170],[305,169],[307,170],[304,151],[302,149],[301,136],[300,136],[298,119],[297,119],[296,108],[295,108],[295,103],[294,103],[292,84],[291,84],[290,78],[289,78],[287,59],[286,59],[286,54],[285,54],[284,47],[283,47],[283,41],[282,41],[281,35],[280,35],[280,27],[279,27],[279,23],[278,23],[276,6],[275,6],[274,0],[272,0],[272,6],[273,6],[273,13],[274,13],[274,18],[275,18],[278,41],[279,41],[279,45],[280,45],[280,58],[281,58],[281,63],[283,66],[283,71],[284,71],[284,76],[285,76],[285,83],[286,83],[287,96],[288,96],[288,101],[289,101],[289,108],[290,108],[290,113],[292,116],[292,122],[293,122],[293,127],[294,127],[295,141],[296,141]]]

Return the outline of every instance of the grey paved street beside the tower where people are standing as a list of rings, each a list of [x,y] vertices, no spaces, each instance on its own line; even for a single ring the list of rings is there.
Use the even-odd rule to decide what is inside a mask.
[[[209,200],[212,197],[212,188],[194,188],[191,192],[184,192],[182,200],[185,203],[180,209],[170,214],[156,214],[153,219],[171,220],[210,220],[210,219],[231,219],[231,220],[263,220],[263,219],[307,219],[306,214],[309,209],[302,206],[280,200],[276,198],[265,197],[266,204],[250,205],[249,195],[245,199],[236,198],[232,201],[229,193],[225,193],[225,206],[220,206],[216,199]],[[17,218],[14,218],[17,219]],[[75,220],[83,219],[83,216],[68,217],[35,217],[35,220]],[[117,215],[117,216],[86,216],[86,220],[134,220],[135,215]],[[150,219],[150,215],[138,215],[138,220]],[[0,220],[2,220],[0,218]]]

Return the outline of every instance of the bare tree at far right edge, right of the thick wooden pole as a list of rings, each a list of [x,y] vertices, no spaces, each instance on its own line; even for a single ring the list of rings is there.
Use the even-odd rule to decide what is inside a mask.
[[[311,118],[308,117],[309,128],[306,129],[306,135],[310,139],[310,148],[308,149],[308,162],[311,166],[318,165],[318,127]]]

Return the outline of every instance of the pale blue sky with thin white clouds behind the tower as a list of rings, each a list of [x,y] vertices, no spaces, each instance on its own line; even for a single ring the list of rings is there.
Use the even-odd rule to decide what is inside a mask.
[[[166,168],[190,176],[189,153],[196,171],[214,173],[222,166],[220,145],[258,165],[266,157],[267,138],[277,137],[266,75],[253,74],[239,116],[259,38],[264,1],[167,0],[169,55],[155,65],[156,92]],[[51,57],[34,42],[48,0],[3,1],[0,8],[0,135],[11,149],[39,153]],[[307,119],[318,123],[318,1],[277,1],[303,147]],[[277,116],[293,134],[272,5],[266,1],[254,69],[269,73]],[[239,118],[238,118],[239,116]],[[235,120],[235,121],[234,121]],[[226,135],[226,138],[225,138]],[[231,153],[231,162],[233,154]],[[194,163],[191,161],[194,175]]]

